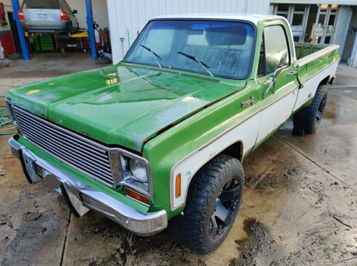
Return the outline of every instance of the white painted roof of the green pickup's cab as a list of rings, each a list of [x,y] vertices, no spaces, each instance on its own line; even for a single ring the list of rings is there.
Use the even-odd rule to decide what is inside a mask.
[[[157,16],[153,19],[229,19],[229,20],[247,20],[258,25],[261,20],[284,19],[276,15],[262,14],[231,14],[231,13],[196,13],[196,14],[174,14]]]

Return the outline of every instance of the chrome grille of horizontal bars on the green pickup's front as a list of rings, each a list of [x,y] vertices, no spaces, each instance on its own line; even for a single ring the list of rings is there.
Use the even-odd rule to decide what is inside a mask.
[[[115,187],[109,149],[79,134],[14,106],[20,130],[28,141],[85,174]]]

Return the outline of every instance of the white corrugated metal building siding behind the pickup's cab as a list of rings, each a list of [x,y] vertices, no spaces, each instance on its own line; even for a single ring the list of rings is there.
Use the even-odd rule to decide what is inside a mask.
[[[107,0],[112,41],[113,62],[122,60],[120,38],[124,38],[124,54],[147,21],[152,17],[184,13],[253,13],[268,14],[270,0]]]

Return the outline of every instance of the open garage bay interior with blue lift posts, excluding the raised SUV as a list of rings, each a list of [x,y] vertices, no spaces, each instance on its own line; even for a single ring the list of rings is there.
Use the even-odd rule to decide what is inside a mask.
[[[12,77],[14,72],[22,77],[51,77],[111,64],[106,0],[67,0],[66,3],[72,12],[77,11],[73,15],[79,25],[79,30],[72,32],[70,37],[62,33],[23,32],[17,15],[22,1],[2,1],[4,22],[0,23],[0,60],[9,65],[1,70],[2,77]],[[92,59],[100,56],[108,60],[96,64]]]

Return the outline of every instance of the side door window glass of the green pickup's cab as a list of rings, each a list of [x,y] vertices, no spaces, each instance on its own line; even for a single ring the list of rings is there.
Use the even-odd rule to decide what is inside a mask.
[[[269,75],[279,66],[283,53],[288,49],[288,41],[285,30],[280,25],[267,26],[263,31],[262,52],[258,63],[258,75]],[[290,65],[290,57],[286,59],[286,64]]]

